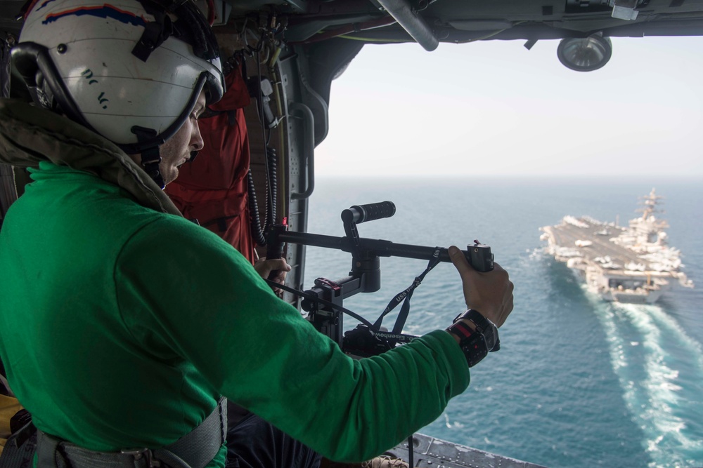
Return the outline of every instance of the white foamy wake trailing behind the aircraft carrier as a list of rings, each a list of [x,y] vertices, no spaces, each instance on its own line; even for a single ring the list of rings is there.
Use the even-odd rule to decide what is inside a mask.
[[[626,406],[645,435],[650,468],[699,464],[702,437],[686,431],[686,420],[700,413],[700,403],[682,398],[677,381],[683,368],[703,381],[701,345],[661,307],[595,300],[594,309],[607,335]]]

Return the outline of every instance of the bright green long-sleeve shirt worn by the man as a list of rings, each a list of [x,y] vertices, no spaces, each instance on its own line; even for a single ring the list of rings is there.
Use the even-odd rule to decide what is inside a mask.
[[[354,361],[207,229],[91,173],[31,172],[0,232],[0,357],[44,432],[165,446],[223,394],[327,457],[364,460],[468,385],[443,330]]]

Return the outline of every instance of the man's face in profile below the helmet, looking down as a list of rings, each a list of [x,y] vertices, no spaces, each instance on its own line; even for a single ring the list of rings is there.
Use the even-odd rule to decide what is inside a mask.
[[[191,159],[191,152],[202,149],[202,137],[198,128],[198,116],[205,110],[205,92],[200,93],[193,112],[176,134],[160,147],[159,169],[164,182],[169,184],[178,177],[178,168]]]

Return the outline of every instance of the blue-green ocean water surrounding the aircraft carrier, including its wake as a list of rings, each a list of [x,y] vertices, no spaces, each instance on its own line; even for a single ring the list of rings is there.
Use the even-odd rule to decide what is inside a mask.
[[[515,309],[501,351],[472,368],[467,391],[420,432],[550,468],[703,467],[701,182],[318,180],[309,232],[344,236],[344,208],[390,200],[394,217],[359,225],[361,237],[462,248],[478,239],[510,273]],[[543,253],[539,227],[569,214],[626,225],[652,187],[696,288],[674,288],[657,305],[602,302]],[[305,287],[350,265],[348,253],[311,247]],[[381,290],[344,305],[374,321],[425,266],[382,258]],[[415,290],[405,331],[445,328],[463,309],[458,274],[442,263]]]

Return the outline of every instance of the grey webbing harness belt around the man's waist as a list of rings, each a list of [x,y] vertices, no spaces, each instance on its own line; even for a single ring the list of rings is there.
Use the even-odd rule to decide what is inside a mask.
[[[61,441],[37,429],[38,468],[204,468],[226,440],[227,401],[217,407],[198,427],[169,446],[120,452],[98,452]]]

